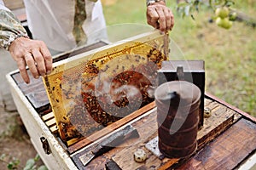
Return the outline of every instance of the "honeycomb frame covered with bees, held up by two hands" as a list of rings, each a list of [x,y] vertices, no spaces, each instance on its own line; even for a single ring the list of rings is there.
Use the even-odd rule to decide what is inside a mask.
[[[168,44],[168,35],[161,35],[159,31],[150,31],[56,62],[52,73],[43,80],[61,139],[67,145],[80,139],[90,139],[90,136],[104,127],[152,102],[153,98],[146,99],[143,95],[142,99],[139,99],[142,105],[122,107],[131,92],[126,93],[124,98],[119,97],[123,92],[115,92],[117,95],[112,99],[113,90],[112,93],[110,92],[112,88],[106,91],[106,82],[113,86],[115,81],[114,84],[119,84],[118,88],[122,88],[133,85],[127,84],[126,78],[130,77],[128,82],[140,82],[139,88],[150,83],[154,87],[156,70],[160,68],[161,61],[166,60],[168,56]],[[119,81],[120,77],[121,81]],[[88,92],[93,95],[88,95]],[[140,92],[147,94],[148,88]],[[98,99],[102,103],[97,102],[96,105],[92,105],[99,101]],[[130,106],[137,104],[136,95],[134,99],[133,103],[129,101]],[[112,100],[117,102],[111,102]],[[89,111],[93,106],[97,108]],[[99,111],[98,106],[103,109]],[[119,110],[118,107],[121,109]],[[109,110],[105,111],[106,108]],[[121,110],[125,114],[117,115]],[[104,119],[106,115],[107,118]],[[129,117],[132,119],[132,116]]]

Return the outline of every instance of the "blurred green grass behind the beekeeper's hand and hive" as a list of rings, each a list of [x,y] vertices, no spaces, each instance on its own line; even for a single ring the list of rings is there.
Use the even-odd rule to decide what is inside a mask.
[[[209,9],[195,13],[195,20],[181,18],[176,13],[176,1],[167,2],[175,14],[170,33],[171,58],[204,59],[206,91],[256,116],[256,30],[241,22],[233,23],[230,30],[219,28],[208,22],[213,14]],[[256,4],[251,0],[236,0],[233,7],[249,16],[256,15]],[[147,25],[145,1],[117,0],[113,5],[103,5],[103,10],[108,26]]]

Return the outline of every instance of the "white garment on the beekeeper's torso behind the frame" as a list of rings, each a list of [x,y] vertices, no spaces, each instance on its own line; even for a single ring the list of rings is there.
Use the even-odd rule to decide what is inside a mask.
[[[73,37],[74,0],[24,0],[28,27],[34,39],[43,40],[48,48],[67,51],[76,48]],[[87,43],[106,38],[102,3],[85,0],[86,20],[83,29]]]

